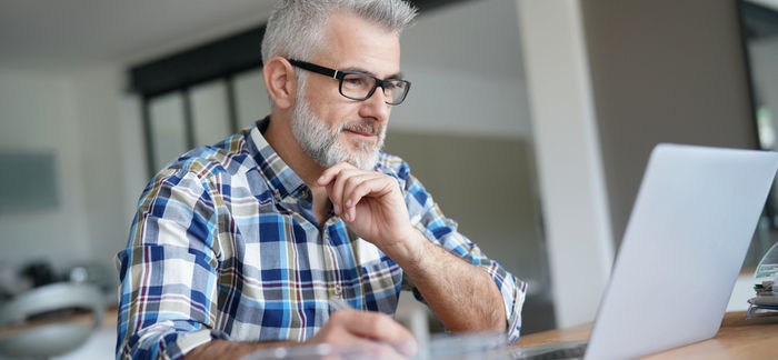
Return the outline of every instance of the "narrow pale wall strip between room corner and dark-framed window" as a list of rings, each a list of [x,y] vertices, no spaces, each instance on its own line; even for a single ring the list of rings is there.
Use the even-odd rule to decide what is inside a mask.
[[[113,256],[127,243],[128,213],[148,181],[139,118],[126,108],[123,71],[118,64],[92,64],[70,76],[90,256],[111,274]],[[127,199],[127,189],[134,189],[133,198]]]

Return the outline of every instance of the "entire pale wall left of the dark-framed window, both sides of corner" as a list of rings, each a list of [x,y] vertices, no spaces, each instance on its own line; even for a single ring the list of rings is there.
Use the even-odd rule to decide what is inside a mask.
[[[68,74],[0,69],[0,149],[53,151],[60,196],[51,209],[0,213],[0,261],[97,262],[113,271],[147,181],[122,73],[104,64]]]

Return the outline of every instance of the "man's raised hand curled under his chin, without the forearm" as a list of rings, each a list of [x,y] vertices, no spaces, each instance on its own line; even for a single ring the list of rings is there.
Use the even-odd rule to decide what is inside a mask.
[[[397,180],[377,171],[365,171],[347,162],[327,170],[317,180],[326,187],[335,213],[360,238],[390,257],[411,261],[420,258],[421,244],[410,242],[416,229]]]

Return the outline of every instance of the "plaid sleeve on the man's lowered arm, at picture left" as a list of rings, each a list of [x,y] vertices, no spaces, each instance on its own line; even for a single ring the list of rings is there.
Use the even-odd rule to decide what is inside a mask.
[[[141,196],[129,243],[117,256],[117,359],[180,359],[215,338],[218,234],[211,196],[183,170]]]

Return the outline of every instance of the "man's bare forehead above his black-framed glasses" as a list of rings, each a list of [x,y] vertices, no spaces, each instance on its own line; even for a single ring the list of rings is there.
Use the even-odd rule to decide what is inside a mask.
[[[338,69],[361,69],[382,77],[400,71],[400,41],[391,30],[347,12],[333,13],[315,61]]]

